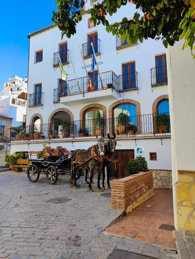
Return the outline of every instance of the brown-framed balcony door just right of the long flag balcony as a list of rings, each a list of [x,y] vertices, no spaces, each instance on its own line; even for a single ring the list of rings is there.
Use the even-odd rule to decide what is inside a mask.
[[[130,89],[136,87],[136,77],[135,77],[135,62],[122,65],[122,85],[123,89]]]

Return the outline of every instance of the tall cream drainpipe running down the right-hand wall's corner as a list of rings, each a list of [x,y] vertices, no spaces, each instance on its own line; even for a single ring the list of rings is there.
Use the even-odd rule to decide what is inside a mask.
[[[167,77],[168,77],[168,91],[169,91],[169,111],[170,111],[170,124],[171,124],[171,163],[172,163],[172,184],[173,184],[173,212],[174,212],[174,226],[179,230],[178,220],[178,206],[177,206],[177,154],[176,154],[176,141],[175,141],[175,119],[174,119],[174,105],[173,105],[173,86],[171,77],[171,55],[170,46],[166,49],[166,62],[167,62]]]

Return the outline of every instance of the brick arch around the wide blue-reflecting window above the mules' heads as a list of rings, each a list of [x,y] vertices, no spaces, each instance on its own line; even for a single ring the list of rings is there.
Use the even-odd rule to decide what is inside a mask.
[[[141,106],[140,106],[140,103],[138,101],[133,100],[133,99],[121,99],[121,100],[118,100],[118,101],[114,102],[108,108],[108,116],[109,116],[109,118],[113,119],[113,110],[114,110],[114,108],[116,108],[117,106],[122,105],[122,104],[132,104],[132,105],[136,106],[137,133],[141,134]],[[112,121],[111,121],[109,127],[110,127],[109,131],[113,131],[113,129],[112,129]]]

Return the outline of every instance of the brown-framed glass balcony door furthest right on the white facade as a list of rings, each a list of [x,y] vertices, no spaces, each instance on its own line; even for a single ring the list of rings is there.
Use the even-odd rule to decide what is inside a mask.
[[[156,56],[156,83],[167,82],[166,54]]]

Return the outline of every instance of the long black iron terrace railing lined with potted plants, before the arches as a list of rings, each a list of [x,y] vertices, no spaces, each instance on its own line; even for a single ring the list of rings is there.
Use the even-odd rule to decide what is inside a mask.
[[[118,136],[170,133],[169,113],[164,113],[163,116],[161,115],[145,114],[126,116],[124,121],[119,121],[118,118],[87,119],[12,127],[11,140],[75,138],[95,135],[106,136],[108,133],[110,135],[115,133]]]

